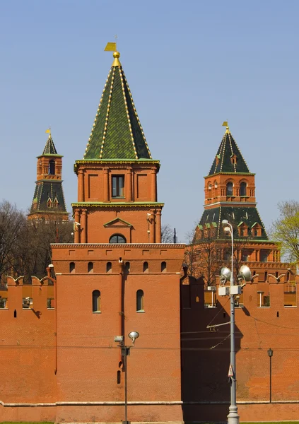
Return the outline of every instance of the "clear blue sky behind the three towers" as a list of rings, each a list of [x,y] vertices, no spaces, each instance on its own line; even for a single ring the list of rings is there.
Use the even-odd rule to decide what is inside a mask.
[[[299,197],[298,16],[298,1],[0,0],[0,199],[30,206],[51,125],[71,211],[117,34],[163,223],[183,242],[200,219],[228,119],[269,227]]]

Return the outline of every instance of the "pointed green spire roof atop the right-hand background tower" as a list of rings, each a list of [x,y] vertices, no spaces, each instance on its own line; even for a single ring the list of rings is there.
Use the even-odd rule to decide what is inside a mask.
[[[232,160],[233,156],[235,156],[236,159],[235,163],[233,163]],[[225,131],[221,145],[213,160],[209,175],[218,174],[218,172],[250,173],[247,163],[242,157],[242,153],[228,129]]]

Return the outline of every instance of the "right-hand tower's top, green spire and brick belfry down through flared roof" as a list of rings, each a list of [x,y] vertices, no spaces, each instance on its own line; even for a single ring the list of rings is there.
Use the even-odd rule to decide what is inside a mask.
[[[209,175],[205,177],[205,205],[197,232],[213,229],[213,237],[223,237],[221,222],[235,225],[241,239],[268,240],[264,224],[257,211],[254,174],[230,133],[227,122]]]

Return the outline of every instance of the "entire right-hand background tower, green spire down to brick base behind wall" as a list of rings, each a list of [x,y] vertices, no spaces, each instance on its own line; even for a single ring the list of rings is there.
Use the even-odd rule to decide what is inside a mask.
[[[223,124],[226,124],[225,134],[209,174],[204,177],[204,213],[197,225],[194,243],[208,246],[208,242],[206,250],[215,252],[213,264],[217,262],[220,266],[223,261],[230,260],[230,244],[222,225],[223,220],[228,220],[234,229],[237,269],[242,262],[252,262],[257,270],[259,263],[275,262],[277,265],[280,248],[269,240],[257,211],[255,174],[250,172],[227,122]]]

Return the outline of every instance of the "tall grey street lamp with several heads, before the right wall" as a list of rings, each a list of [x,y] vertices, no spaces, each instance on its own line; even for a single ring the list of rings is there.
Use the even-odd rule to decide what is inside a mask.
[[[230,367],[228,371],[228,377],[230,377],[230,408],[228,413],[228,424],[238,424],[238,406],[237,406],[237,385],[236,385],[236,370],[235,370],[235,299],[234,295],[240,295],[242,293],[241,285],[234,285],[233,280],[233,226],[228,220],[223,219],[223,230],[229,232],[231,237],[232,252],[231,252],[231,270],[225,266],[221,269],[221,282],[225,283],[230,280],[229,290],[226,287],[219,288],[219,295],[230,295]],[[238,280],[250,281],[252,278],[250,269],[248,266],[241,266],[240,275]],[[224,289],[224,290],[223,290]]]

